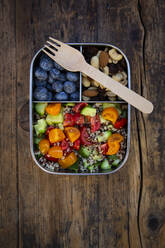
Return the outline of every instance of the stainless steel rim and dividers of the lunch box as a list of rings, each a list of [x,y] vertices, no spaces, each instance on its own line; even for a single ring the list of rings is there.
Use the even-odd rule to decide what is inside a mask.
[[[129,61],[126,57],[126,55],[116,46],[111,45],[111,44],[106,44],[106,43],[68,43],[69,45],[72,45],[76,48],[79,48],[80,52],[82,52],[82,48],[83,46],[103,46],[103,47],[110,47],[110,48],[115,48],[117,51],[119,51],[119,53],[121,53],[123,55],[123,57],[125,58],[126,64],[127,64],[127,73],[128,73],[128,88],[131,88],[131,75],[130,75],[130,65],[129,65]],[[120,166],[118,168],[116,168],[113,171],[109,171],[109,172],[97,172],[97,173],[71,173],[71,172],[54,172],[54,171],[49,171],[45,168],[43,168],[39,162],[37,161],[37,159],[35,158],[34,155],[34,150],[33,150],[33,102],[37,103],[39,101],[33,101],[33,69],[34,69],[34,64],[36,62],[36,60],[38,59],[38,57],[40,56],[40,53],[42,52],[42,49],[40,49],[35,56],[32,59],[31,62],[31,67],[30,67],[30,99],[29,99],[29,120],[30,120],[30,150],[31,150],[31,154],[32,157],[35,161],[35,163],[45,172],[50,173],[50,174],[56,174],[56,175],[107,175],[107,174],[112,174],[117,172],[121,167],[123,167],[123,165],[126,163],[127,158],[128,158],[128,154],[129,154],[129,147],[130,147],[130,118],[131,118],[131,106],[130,104],[128,104],[128,124],[127,124],[127,150],[126,150],[126,154],[125,154],[125,158],[122,161],[122,163],[120,164]],[[80,99],[77,102],[81,102],[82,101],[82,76],[80,73]],[[49,102],[49,101],[47,101]],[[56,101],[50,101],[50,102],[56,102]],[[68,102],[68,101],[66,101]],[[71,101],[69,101],[71,102]],[[74,101],[75,102],[75,101]],[[85,101],[88,102],[88,101]],[[92,103],[92,101],[89,101],[90,103]],[[107,101],[97,101],[97,102],[107,102]],[[125,103],[124,101],[109,101],[111,103]],[[62,103],[65,103],[62,102]]]

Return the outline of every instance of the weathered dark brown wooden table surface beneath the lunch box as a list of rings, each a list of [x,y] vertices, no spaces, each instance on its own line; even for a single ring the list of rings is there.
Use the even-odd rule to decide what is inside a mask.
[[[163,0],[0,1],[0,247],[165,247]],[[125,166],[110,176],[54,176],[33,162],[31,59],[48,36],[120,47],[132,88],[151,115],[132,109]]]

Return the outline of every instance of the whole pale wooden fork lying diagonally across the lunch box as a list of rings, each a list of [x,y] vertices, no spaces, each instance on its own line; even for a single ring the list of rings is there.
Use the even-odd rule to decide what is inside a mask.
[[[83,72],[143,113],[152,112],[153,104],[151,102],[89,65],[81,52],[52,37],[49,39],[53,41],[47,41],[51,47],[45,45],[46,49],[42,50],[66,70]]]

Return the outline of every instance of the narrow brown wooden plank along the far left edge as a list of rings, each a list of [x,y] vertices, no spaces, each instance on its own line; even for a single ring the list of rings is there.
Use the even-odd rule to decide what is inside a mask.
[[[15,1],[0,1],[0,247],[17,247]]]

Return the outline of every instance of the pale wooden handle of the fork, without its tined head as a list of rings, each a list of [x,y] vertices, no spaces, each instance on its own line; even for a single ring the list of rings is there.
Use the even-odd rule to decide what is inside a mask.
[[[127,87],[123,86],[119,82],[113,80],[111,77],[107,76],[88,63],[84,63],[81,72],[96,80],[105,88],[110,89],[114,94],[118,95],[120,98],[122,98],[135,108],[139,109],[143,113],[149,114],[152,112],[153,104],[150,101],[138,95],[133,90],[130,90]]]

